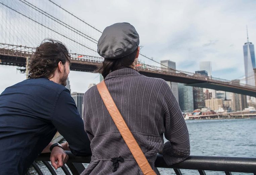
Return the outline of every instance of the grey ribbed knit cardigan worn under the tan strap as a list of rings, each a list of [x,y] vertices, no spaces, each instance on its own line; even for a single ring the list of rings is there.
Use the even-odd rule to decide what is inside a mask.
[[[106,86],[140,145],[153,170],[162,151],[168,165],[185,160],[190,154],[186,123],[168,84],[157,78],[123,68],[105,78]],[[92,159],[82,175],[142,174],[129,148],[108,113],[96,86],[84,94],[84,127],[91,140]],[[164,144],[163,134],[169,140]],[[111,158],[123,157],[113,172]]]

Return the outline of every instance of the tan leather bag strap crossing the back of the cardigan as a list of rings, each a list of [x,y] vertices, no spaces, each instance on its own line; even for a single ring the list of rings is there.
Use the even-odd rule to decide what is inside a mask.
[[[148,163],[145,155],[143,154],[142,150],[140,149],[137,141],[133,137],[130,129],[126,125],[122,115],[120,114],[113,98],[111,97],[108,88],[104,81],[97,84],[97,89],[99,94],[109,111],[113,121],[115,122],[119,132],[121,133],[125,143],[127,144],[128,148],[130,149],[134,159],[138,163],[141,171],[144,175],[156,175],[154,170],[151,168],[150,164]]]

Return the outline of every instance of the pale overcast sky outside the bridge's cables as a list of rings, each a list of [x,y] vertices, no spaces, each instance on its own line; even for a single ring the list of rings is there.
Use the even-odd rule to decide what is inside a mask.
[[[32,1],[33,2],[33,1]],[[200,61],[212,61],[212,76],[244,76],[243,45],[256,43],[256,1],[84,1],[54,0],[63,8],[103,31],[117,22],[129,22],[140,36],[141,53],[160,61],[176,62],[176,69],[199,70]],[[72,92],[85,92],[98,83],[97,74],[70,73]],[[0,92],[26,78],[16,67],[0,65]]]

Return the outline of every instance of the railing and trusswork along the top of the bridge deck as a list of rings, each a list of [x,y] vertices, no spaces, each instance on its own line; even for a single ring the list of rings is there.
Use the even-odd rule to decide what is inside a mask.
[[[2,55],[10,55],[10,56],[16,56],[16,57],[27,57],[31,56],[33,54],[32,47],[27,46],[21,46],[21,45],[10,45],[10,44],[4,44],[0,43],[0,54]],[[83,55],[83,54],[77,54],[77,53],[70,53],[71,55],[71,61],[74,63],[89,63],[89,64],[97,64],[100,65],[100,63],[104,60],[102,57],[96,57],[96,56],[89,56],[89,55]],[[191,79],[197,79],[201,80],[202,82],[210,82],[210,83],[216,83],[216,84],[224,84],[228,86],[238,87],[248,90],[254,90],[256,91],[255,86],[242,84],[240,82],[233,82],[229,80],[204,76],[200,74],[195,74],[191,72],[186,71],[179,71],[171,68],[163,68],[163,67],[157,67],[153,65],[147,65],[143,63],[139,63],[139,66],[137,67],[139,71],[151,71],[151,72],[158,72],[161,74],[166,75],[174,75],[178,77],[185,77],[185,78],[191,78]]]

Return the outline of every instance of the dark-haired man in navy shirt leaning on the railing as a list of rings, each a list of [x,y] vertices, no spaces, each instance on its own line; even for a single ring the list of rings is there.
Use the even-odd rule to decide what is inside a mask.
[[[57,169],[74,155],[91,154],[76,104],[65,87],[70,55],[59,41],[47,39],[29,61],[29,79],[0,95],[0,175],[24,175],[41,152],[51,151]],[[50,143],[56,131],[68,141]],[[64,149],[64,150],[63,150]]]

